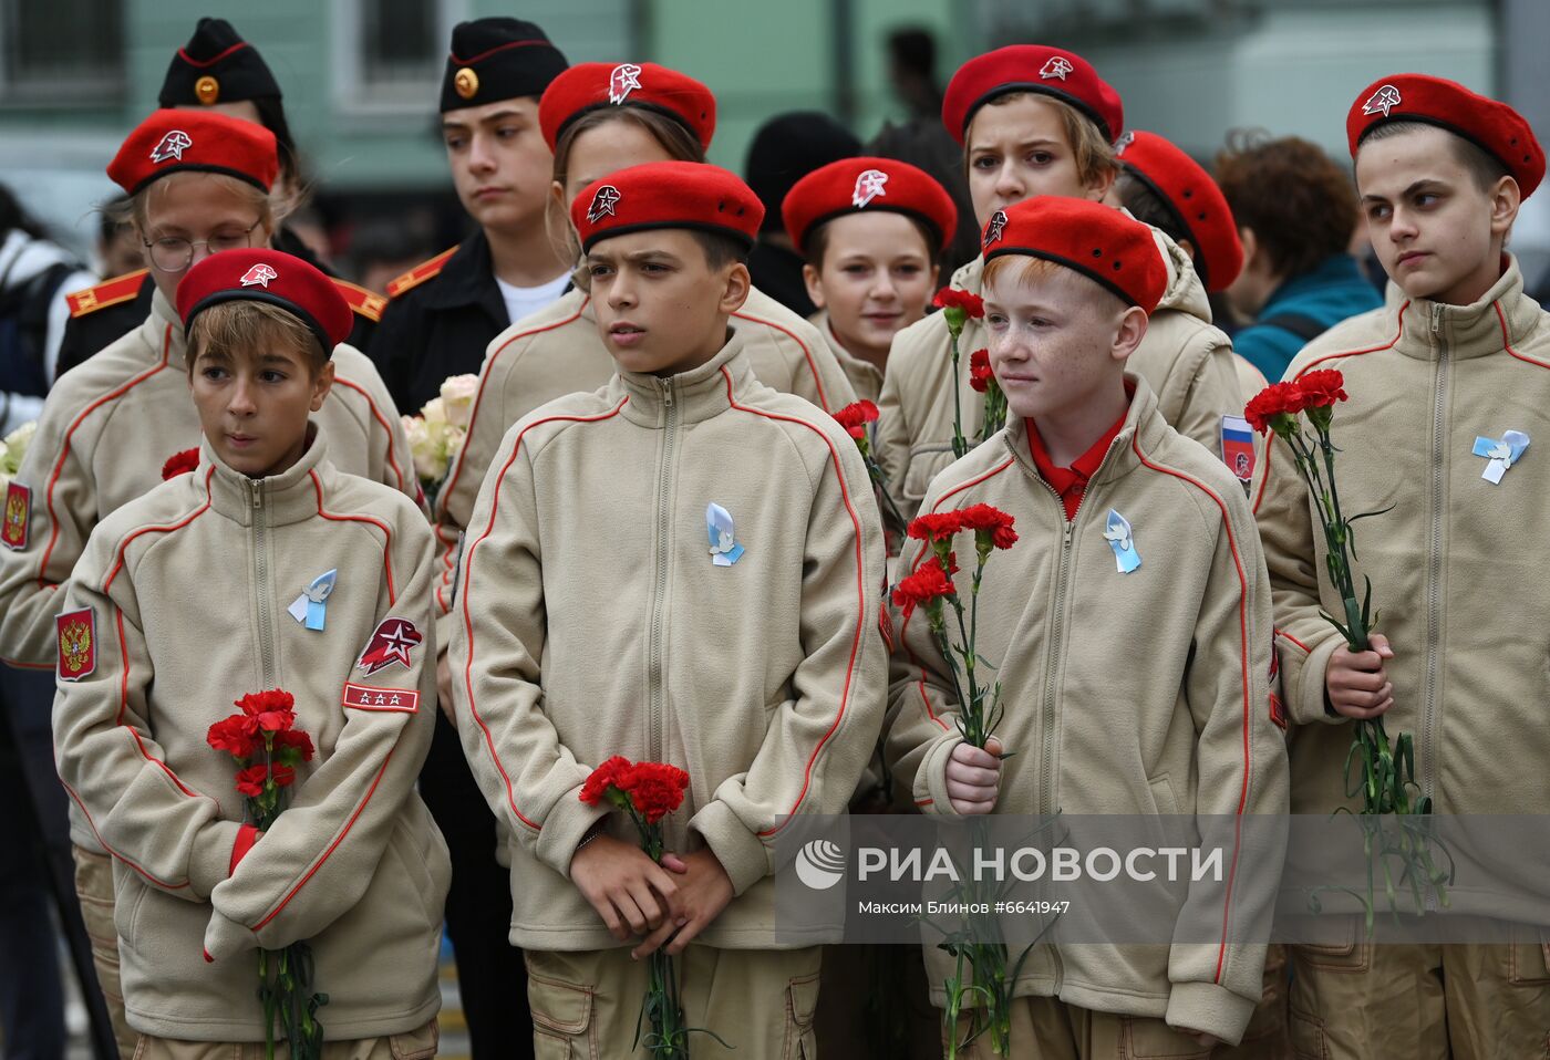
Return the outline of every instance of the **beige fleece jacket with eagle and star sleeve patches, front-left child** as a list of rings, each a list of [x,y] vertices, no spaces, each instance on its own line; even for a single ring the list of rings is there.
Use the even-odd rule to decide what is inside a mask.
[[[313,631],[288,607],[329,570]],[[268,479],[206,448],[197,471],[91,532],[60,601],[70,643],[84,626],[90,646],[60,668],[54,747],[113,854],[136,1031],[262,1040],[254,950],[298,939],[329,995],[329,1038],[400,1034],[436,1015],[451,869],[414,790],[436,719],[432,572],[420,508],[339,473],[326,432]],[[380,651],[389,640],[401,656]],[[267,688],[296,697],[316,756],[228,874],[243,806],[237,767],[206,731]]]

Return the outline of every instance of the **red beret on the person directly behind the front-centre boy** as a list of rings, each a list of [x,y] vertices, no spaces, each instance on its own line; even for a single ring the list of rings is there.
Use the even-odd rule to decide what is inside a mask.
[[[549,150],[572,121],[598,107],[645,107],[687,127],[702,149],[716,132],[710,88],[654,62],[583,62],[549,82],[538,101],[538,124]]]

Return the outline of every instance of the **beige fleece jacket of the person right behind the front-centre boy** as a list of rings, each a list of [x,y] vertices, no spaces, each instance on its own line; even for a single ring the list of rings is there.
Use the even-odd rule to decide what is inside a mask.
[[[840,409],[856,400],[849,381],[828,352],[823,336],[808,321],[756,288],[733,315],[742,335],[744,356],[753,375],[783,394],[808,398],[822,409]],[[473,513],[490,463],[518,420],[567,394],[589,394],[614,375],[597,330],[592,299],[572,290],[538,313],[501,332],[485,352],[474,392],[468,437],[453,459],[446,484],[436,497],[436,536],[440,578],[436,606],[440,643],[450,643],[453,575],[457,541]]]

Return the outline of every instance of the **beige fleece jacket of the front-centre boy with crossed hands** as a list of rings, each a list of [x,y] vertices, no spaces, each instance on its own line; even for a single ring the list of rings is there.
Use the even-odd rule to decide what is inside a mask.
[[[871,755],[887,649],[866,470],[826,412],[753,378],[733,325],[699,369],[615,375],[524,417],[474,504],[453,699],[515,835],[515,945],[618,945],[567,872],[604,817],[581,784],[623,755],[688,770],[668,846],[708,846],[736,893],[701,941],[780,948],[775,840],[789,815],[843,812]],[[711,504],[746,549],[730,566]],[[622,815],[609,828],[636,841]]]

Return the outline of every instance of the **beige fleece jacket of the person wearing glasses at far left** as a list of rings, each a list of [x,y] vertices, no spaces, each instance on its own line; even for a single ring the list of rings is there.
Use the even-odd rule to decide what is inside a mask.
[[[28,494],[22,547],[0,547],[0,659],[53,668],[59,586],[91,528],[161,482],[167,457],[200,443],[183,324],[160,294],[150,316],[50,391],[16,482]],[[315,414],[341,471],[418,497],[403,423],[370,360],[333,350],[333,392]],[[5,541],[11,542],[12,535]]]

